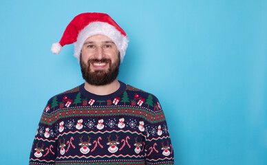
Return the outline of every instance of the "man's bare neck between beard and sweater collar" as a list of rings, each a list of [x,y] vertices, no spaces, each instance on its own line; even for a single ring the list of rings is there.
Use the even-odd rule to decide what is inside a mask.
[[[117,78],[108,85],[90,85],[85,81],[85,90],[89,91],[92,94],[100,96],[112,94],[119,88],[120,88],[120,83],[118,82]]]

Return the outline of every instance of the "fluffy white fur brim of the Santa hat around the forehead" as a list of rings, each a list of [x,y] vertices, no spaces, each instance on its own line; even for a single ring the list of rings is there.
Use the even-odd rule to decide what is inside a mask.
[[[120,52],[120,62],[122,62],[129,42],[127,36],[122,35],[113,25],[103,22],[89,23],[89,25],[79,32],[77,41],[74,43],[74,56],[78,58],[78,61],[80,61],[83,43],[85,43],[85,40],[90,36],[96,34],[107,36],[116,44],[118,51]]]

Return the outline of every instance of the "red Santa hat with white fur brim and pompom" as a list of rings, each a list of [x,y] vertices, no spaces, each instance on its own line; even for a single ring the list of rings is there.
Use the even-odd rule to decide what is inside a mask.
[[[86,12],[78,14],[67,25],[65,32],[58,43],[53,43],[51,51],[54,54],[61,52],[64,45],[74,42],[74,56],[80,61],[83,43],[90,36],[102,34],[111,39],[120,52],[122,62],[128,46],[127,35],[122,28],[108,14],[97,12]]]

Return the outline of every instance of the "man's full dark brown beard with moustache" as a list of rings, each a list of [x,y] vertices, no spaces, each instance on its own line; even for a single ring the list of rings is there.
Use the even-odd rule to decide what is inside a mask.
[[[82,56],[82,55],[81,55]],[[87,63],[82,61],[80,56],[80,65],[81,65],[81,72],[83,74],[83,79],[90,85],[107,85],[112,83],[117,77],[120,67],[120,55],[118,59],[111,63],[110,59],[103,58],[103,59],[89,59]],[[105,70],[95,70],[92,71],[90,69],[91,63],[108,63],[109,69]]]

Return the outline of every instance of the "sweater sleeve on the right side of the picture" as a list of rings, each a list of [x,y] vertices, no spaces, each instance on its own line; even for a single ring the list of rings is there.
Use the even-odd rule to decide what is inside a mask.
[[[153,101],[151,123],[147,123],[146,164],[174,164],[173,146],[164,112],[157,98]]]

